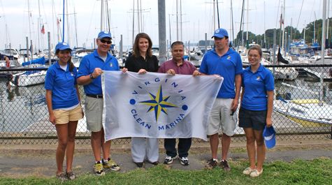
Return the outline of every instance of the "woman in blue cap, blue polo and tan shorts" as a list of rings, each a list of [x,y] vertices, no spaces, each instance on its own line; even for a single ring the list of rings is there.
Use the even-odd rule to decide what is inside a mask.
[[[48,68],[45,89],[49,120],[57,130],[56,175],[61,180],[75,179],[72,171],[75,133],[78,120],[83,117],[76,84],[77,68],[71,62],[71,48],[68,44],[58,43],[55,54],[59,61]],[[65,154],[66,173],[62,170]]]

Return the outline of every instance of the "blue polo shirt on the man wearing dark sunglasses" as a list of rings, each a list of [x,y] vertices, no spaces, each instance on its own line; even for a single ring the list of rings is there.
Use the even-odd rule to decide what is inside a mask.
[[[103,71],[119,71],[120,67],[117,63],[117,59],[107,54],[106,61],[104,62],[96,50],[94,52],[87,54],[80,61],[80,66],[78,67],[78,77],[89,75],[94,72],[94,68],[101,68]],[[84,86],[85,94],[95,94],[101,95],[103,91],[101,89],[101,76],[99,75],[96,79],[92,80],[91,83]]]

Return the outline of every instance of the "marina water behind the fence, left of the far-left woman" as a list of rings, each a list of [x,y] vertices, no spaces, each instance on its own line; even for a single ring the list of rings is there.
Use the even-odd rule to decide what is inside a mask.
[[[10,87],[0,82],[0,132],[14,133],[48,115],[44,84]]]

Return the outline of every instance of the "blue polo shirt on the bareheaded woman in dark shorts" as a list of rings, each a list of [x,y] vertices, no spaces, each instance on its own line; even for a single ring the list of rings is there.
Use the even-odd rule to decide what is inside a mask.
[[[242,76],[242,86],[245,89],[241,108],[246,110],[267,110],[268,95],[266,91],[275,89],[275,80],[272,73],[260,64],[255,73],[251,68],[245,68]]]

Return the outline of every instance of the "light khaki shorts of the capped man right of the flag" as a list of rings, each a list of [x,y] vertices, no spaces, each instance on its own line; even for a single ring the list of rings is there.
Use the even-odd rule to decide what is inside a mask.
[[[210,113],[210,123],[208,124],[208,135],[222,133],[232,136],[235,134],[237,114],[231,115],[231,98],[217,98]]]

